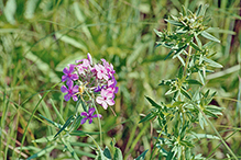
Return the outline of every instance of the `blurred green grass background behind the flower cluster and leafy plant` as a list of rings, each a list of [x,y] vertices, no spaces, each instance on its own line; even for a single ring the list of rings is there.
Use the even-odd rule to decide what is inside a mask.
[[[74,102],[64,102],[57,85],[29,122],[31,113],[41,95],[61,81],[63,68],[86,58],[87,53],[95,60],[106,58],[113,64],[120,88],[113,106],[117,116],[99,107],[103,115],[102,146],[109,146],[114,138],[116,146],[130,160],[151,149],[155,122],[139,124],[151,108],[144,95],[156,102],[168,101],[158,82],[175,77],[179,66],[177,60],[163,60],[168,50],[155,48],[157,36],[153,28],[169,27],[164,19],[177,15],[182,4],[195,11],[204,3],[209,4],[209,26],[220,28],[211,34],[221,41],[215,48],[215,60],[224,66],[207,77],[208,88],[217,91],[211,103],[226,108],[222,116],[211,121],[233,152],[241,156],[240,0],[0,0],[0,159],[20,155],[28,158],[46,147],[32,140],[56,129],[39,114],[59,122],[55,104],[67,119],[74,112]],[[209,127],[194,128],[213,134]],[[79,129],[98,132],[98,125],[95,122]],[[98,135],[94,137],[99,141]],[[81,159],[95,157],[90,138],[76,136],[72,141]],[[58,146],[39,159],[69,158],[70,153],[63,149]],[[228,153],[219,140],[208,139],[197,141],[194,151],[215,159],[227,158]]]

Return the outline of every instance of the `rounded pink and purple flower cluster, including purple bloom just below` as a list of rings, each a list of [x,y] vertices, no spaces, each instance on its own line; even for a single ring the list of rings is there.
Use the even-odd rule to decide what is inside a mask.
[[[63,85],[61,91],[67,93],[64,96],[65,101],[69,101],[70,98],[74,101],[85,100],[86,96],[91,95],[91,98],[95,98],[95,102],[105,110],[109,105],[113,105],[118,87],[112,64],[109,64],[106,59],[101,59],[99,64],[94,64],[90,54],[87,55],[87,59],[76,60],[75,62],[63,70],[62,81],[66,82],[66,85]],[[85,93],[88,93],[88,95]],[[83,115],[90,117],[95,110],[89,108],[89,112],[84,112]],[[85,122],[86,118],[81,123]]]

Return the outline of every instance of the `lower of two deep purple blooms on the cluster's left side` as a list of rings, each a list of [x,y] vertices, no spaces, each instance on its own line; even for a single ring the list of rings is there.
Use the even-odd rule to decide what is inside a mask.
[[[63,87],[61,88],[61,91],[62,91],[63,93],[67,93],[67,94],[64,96],[65,101],[69,101],[70,98],[72,98],[74,101],[77,101],[78,98],[75,95],[75,93],[78,92],[78,85],[73,87],[73,85],[74,85],[74,82],[73,82],[72,80],[70,80],[70,81],[67,81],[66,84],[67,84],[68,89],[67,89],[65,85],[63,85]]]

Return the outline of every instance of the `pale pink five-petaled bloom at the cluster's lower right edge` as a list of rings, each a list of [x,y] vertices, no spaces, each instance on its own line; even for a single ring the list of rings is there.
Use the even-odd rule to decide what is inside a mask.
[[[109,90],[102,89],[100,92],[101,96],[96,98],[96,102],[100,104],[105,110],[107,110],[108,105],[113,105],[113,93]]]

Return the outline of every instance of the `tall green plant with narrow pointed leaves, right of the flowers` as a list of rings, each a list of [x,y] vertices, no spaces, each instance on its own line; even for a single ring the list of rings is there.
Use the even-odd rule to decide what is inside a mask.
[[[154,108],[140,123],[155,119],[158,125],[158,136],[155,137],[150,159],[204,159],[200,153],[194,155],[191,151],[195,139],[200,138],[221,140],[232,158],[238,159],[209,121],[210,117],[222,115],[222,107],[211,104],[216,92],[205,88],[206,75],[213,72],[212,68],[222,66],[212,59],[216,54],[212,47],[220,41],[208,33],[211,27],[207,26],[210,21],[205,16],[207,8],[207,4],[200,5],[193,13],[183,7],[179,16],[171,15],[172,19],[165,20],[174,26],[172,30],[154,30],[160,37],[157,46],[169,49],[165,59],[177,58],[180,65],[176,78],[160,83],[168,88],[165,95],[172,98],[169,103],[158,104],[146,96]],[[202,38],[210,42],[204,44]],[[210,125],[216,136],[195,133],[194,124],[202,129]]]

